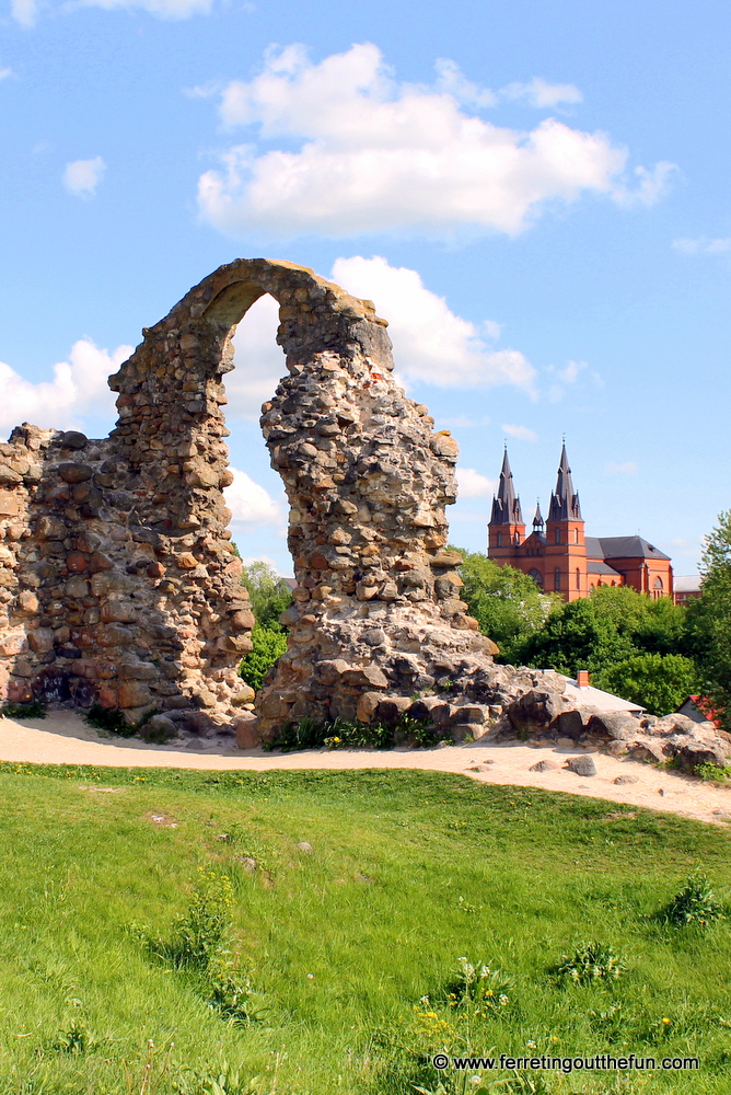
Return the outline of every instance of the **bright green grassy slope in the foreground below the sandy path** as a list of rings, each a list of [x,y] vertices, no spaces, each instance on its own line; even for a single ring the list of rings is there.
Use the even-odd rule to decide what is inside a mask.
[[[427,772],[4,764],[0,791],[3,1095],[477,1091],[428,1064],[441,1050],[700,1059],[480,1071],[495,1092],[731,1091],[731,927],[657,918],[694,869],[731,886],[722,829]],[[221,879],[251,1023],[170,960]],[[590,940],[627,971],[557,978]],[[461,957],[500,971],[474,1006],[448,999]]]

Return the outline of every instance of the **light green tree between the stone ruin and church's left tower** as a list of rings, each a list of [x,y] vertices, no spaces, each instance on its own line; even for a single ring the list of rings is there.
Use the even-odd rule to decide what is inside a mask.
[[[462,598],[479,630],[500,647],[500,660],[512,661],[526,639],[539,629],[554,603],[532,578],[512,566],[499,566],[479,552],[457,549],[464,563]]]

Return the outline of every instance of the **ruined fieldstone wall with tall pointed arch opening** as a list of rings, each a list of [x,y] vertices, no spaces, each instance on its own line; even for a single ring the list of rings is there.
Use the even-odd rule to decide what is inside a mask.
[[[297,586],[287,653],[252,711],[222,407],[232,336],[264,293],[288,376],[262,427]],[[560,695],[558,675],[494,665],[467,615],[444,516],[457,445],[393,379],[370,301],[305,267],[239,260],[142,334],[109,378],[108,438],[25,424],[0,445],[0,700],[101,704],[130,723],[154,710],[253,745],[305,716],[406,710],[460,737],[532,690]]]

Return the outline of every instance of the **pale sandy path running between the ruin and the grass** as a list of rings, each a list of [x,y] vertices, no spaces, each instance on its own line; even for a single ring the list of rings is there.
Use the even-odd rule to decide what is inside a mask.
[[[335,752],[265,752],[263,749],[206,749],[151,746],[143,741],[107,737],[92,729],[71,712],[54,712],[45,719],[0,719],[0,761],[35,764],[95,764],[108,768],[192,768],[204,770],[409,768],[432,772],[456,772],[481,783],[543,787],[573,795],[606,798],[653,810],[678,814],[715,825],[731,822],[731,788],[704,784],[676,772],[666,772],[635,761],[615,760],[592,752],[596,775],[578,776],[562,768],[531,772],[539,760],[562,765],[580,747],[536,748],[519,744],[446,746],[440,749],[394,749],[375,752],[344,749]],[[635,783],[616,785],[618,775]]]

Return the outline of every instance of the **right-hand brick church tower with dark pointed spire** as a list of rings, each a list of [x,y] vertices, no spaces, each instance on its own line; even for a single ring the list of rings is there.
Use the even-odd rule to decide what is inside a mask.
[[[546,521],[546,574],[544,589],[575,601],[588,593],[587,546],[579,495],[573,489],[571,469],[561,448],[556,489],[550,496]]]

